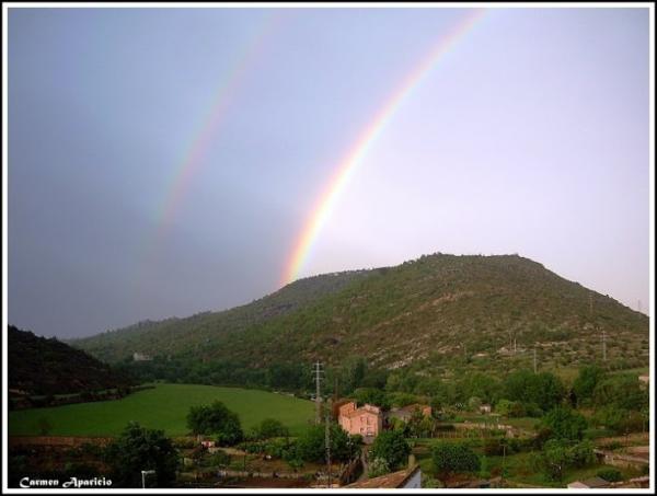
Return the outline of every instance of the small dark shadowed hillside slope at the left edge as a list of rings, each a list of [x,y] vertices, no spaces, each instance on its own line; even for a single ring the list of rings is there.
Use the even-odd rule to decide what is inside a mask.
[[[8,330],[9,389],[27,394],[70,394],[132,384],[85,351],[13,325]]]

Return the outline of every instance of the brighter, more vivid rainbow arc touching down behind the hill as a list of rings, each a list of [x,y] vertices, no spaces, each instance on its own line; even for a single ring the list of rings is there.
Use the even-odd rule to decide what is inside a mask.
[[[295,243],[292,254],[285,267],[281,286],[285,286],[299,277],[299,273],[310,255],[313,243],[318,239],[322,226],[331,216],[339,194],[344,191],[349,178],[353,176],[354,171],[358,164],[362,162],[364,158],[372,148],[377,138],[381,136],[383,129],[390,123],[394,114],[399,111],[413,90],[419,85],[427,73],[429,73],[440,61],[442,56],[472,28],[483,13],[484,9],[472,9],[472,12],[469,12],[447,33],[447,35],[442,36],[437,42],[436,46],[430,50],[427,57],[404,79],[399,89],[365,128],[342,162],[339,162],[339,165],[333,173],[328,184],[318,198],[297,242]]]

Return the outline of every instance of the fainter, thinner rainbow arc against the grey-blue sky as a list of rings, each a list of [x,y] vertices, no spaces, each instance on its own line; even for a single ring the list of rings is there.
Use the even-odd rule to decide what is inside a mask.
[[[206,155],[219,124],[227,115],[230,103],[235,99],[235,93],[245,77],[262,57],[265,42],[280,26],[281,19],[283,15],[278,10],[270,10],[263,16],[260,26],[254,30],[254,35],[242,47],[235,57],[235,62],[219,82],[212,103],[209,106],[209,113],[201,122],[199,130],[194,134],[195,138],[180,161],[180,165],[171,180],[171,185],[165,189],[166,194],[162,205],[158,208],[157,226],[159,237],[163,235],[166,227],[173,221],[192,178],[198,173],[201,159]]]

